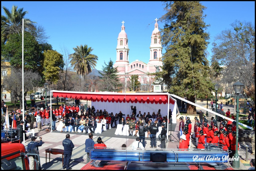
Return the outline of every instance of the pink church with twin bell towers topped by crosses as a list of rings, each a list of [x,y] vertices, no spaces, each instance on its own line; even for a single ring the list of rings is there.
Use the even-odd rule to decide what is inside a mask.
[[[121,32],[117,38],[117,46],[116,46],[116,61],[114,67],[117,67],[119,71],[120,80],[124,80],[125,83],[131,78],[132,75],[138,75],[141,83],[141,87],[137,88],[140,91],[155,91],[161,92],[163,88],[161,85],[154,85],[157,82],[154,79],[153,75],[148,75],[148,73],[155,73],[161,71],[161,67],[163,63],[161,61],[162,57],[162,45],[160,40],[160,32],[158,30],[157,20],[154,26],[154,30],[151,35],[151,43],[150,43],[150,55],[149,62],[145,63],[136,59],[133,62],[129,62],[129,46],[128,46],[128,38],[125,33],[124,21],[121,27]],[[133,81],[132,81],[133,82]],[[134,88],[136,90],[136,88]]]

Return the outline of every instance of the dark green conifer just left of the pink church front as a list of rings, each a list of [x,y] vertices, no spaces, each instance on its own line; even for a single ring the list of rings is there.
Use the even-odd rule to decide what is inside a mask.
[[[122,90],[122,83],[119,81],[117,76],[118,70],[114,68],[113,61],[110,59],[109,63],[106,64],[104,61],[105,66],[102,66],[103,73],[100,73],[102,76],[101,85],[99,85],[100,91],[115,91],[118,92]]]

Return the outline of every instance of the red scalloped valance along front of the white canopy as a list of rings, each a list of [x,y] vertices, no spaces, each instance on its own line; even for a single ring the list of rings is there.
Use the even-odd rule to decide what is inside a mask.
[[[93,102],[95,101],[101,101],[101,102],[131,102],[131,103],[168,103],[168,96],[163,94],[159,95],[151,95],[151,94],[146,94],[145,95],[136,95],[136,94],[94,94],[94,93],[86,93],[86,94],[81,94],[81,93],[74,93],[74,92],[52,92],[53,97],[67,97],[67,98],[74,98],[74,99],[80,99],[80,100],[91,100]],[[174,100],[170,99],[169,101],[171,104],[174,104]]]

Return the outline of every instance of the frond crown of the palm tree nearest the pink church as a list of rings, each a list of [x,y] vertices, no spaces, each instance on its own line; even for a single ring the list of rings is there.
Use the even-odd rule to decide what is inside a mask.
[[[96,67],[98,56],[90,54],[93,49],[91,47],[88,48],[86,44],[74,47],[73,50],[75,52],[70,55],[71,66],[74,67],[77,74],[84,78]]]

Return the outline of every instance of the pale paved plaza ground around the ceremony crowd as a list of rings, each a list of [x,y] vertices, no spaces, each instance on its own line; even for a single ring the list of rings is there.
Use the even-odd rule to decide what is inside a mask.
[[[27,97],[29,100],[29,97]],[[10,100],[10,99],[9,99]],[[7,100],[8,96],[7,96]],[[85,101],[86,103],[86,101]],[[90,101],[88,101],[88,105],[90,105]],[[206,103],[204,102],[198,102],[197,104],[206,107]],[[91,105],[90,105],[91,106]],[[181,107],[180,107],[181,108]],[[224,111],[226,112],[227,109],[230,109],[232,111],[232,106],[223,106]],[[199,110],[199,109],[197,109]],[[202,110],[203,113],[206,111]],[[144,111],[143,111],[144,112]],[[152,113],[152,112],[151,112]],[[185,115],[184,115],[185,116]],[[214,116],[213,114],[209,113],[209,117],[207,118],[209,121],[210,118]],[[179,118],[178,116],[177,118]],[[215,117],[215,116],[214,116]],[[192,121],[192,131],[194,130],[194,116],[190,117]],[[59,125],[59,123],[56,123],[56,127]],[[219,122],[218,122],[219,125]],[[34,125],[35,127],[35,125]],[[72,169],[81,169],[86,164],[86,156],[85,153],[85,140],[89,138],[88,134],[84,133],[73,133],[73,132],[60,132],[60,131],[53,131],[53,132],[45,132],[44,130],[47,128],[47,126],[42,126],[43,131],[38,132],[37,128],[35,128],[35,136],[42,137],[43,145],[39,147],[39,155],[40,155],[40,162],[41,167],[43,170],[51,169],[51,170],[59,170],[62,169],[62,155],[53,155],[51,154],[50,157],[50,163],[49,163],[49,153],[47,154],[47,164],[46,164],[46,156],[45,156],[45,150],[48,148],[57,148],[57,149],[63,149],[62,141],[66,138],[66,134],[70,134],[70,140],[72,140],[75,148],[72,152],[70,167]],[[107,147],[121,147],[122,144],[126,144],[127,147],[131,147],[132,143],[135,141],[136,137],[132,136],[122,136],[122,135],[115,135],[116,128],[111,128],[107,131],[102,132],[101,134],[93,134],[93,140],[95,143],[97,143],[97,139],[100,136]],[[172,130],[169,131],[168,135],[172,133],[171,140],[167,142],[167,148],[168,149],[177,149],[179,146],[179,120],[177,119],[177,124],[172,125]],[[38,139],[37,139],[38,140]],[[196,143],[195,140],[192,139],[191,141],[191,148],[195,148]],[[28,144],[28,140],[25,141],[25,146]],[[250,167],[249,162],[251,158],[255,158],[254,155],[251,154],[251,143],[250,142],[239,142],[240,148],[238,151],[238,154],[240,155],[240,168],[239,169],[248,169]],[[157,148],[160,148],[160,141],[157,140]],[[244,145],[249,145],[250,148],[248,149],[248,162],[246,162],[246,148]],[[145,148],[150,147],[150,138],[145,138]],[[231,166],[230,166],[231,167]]]

